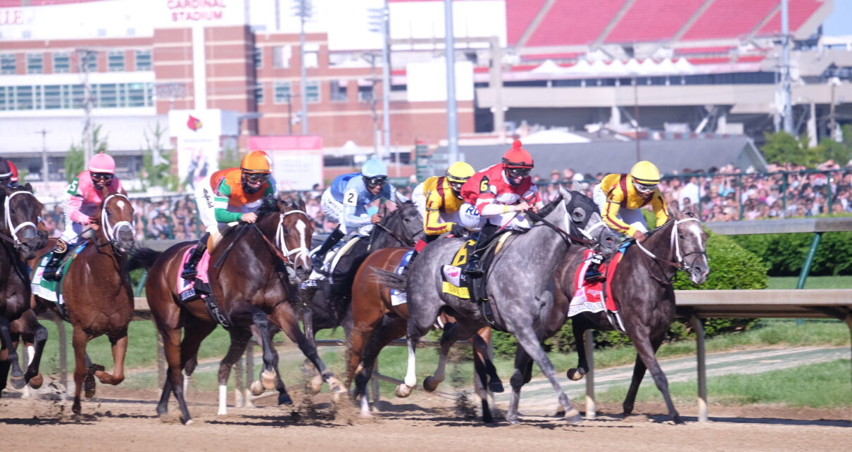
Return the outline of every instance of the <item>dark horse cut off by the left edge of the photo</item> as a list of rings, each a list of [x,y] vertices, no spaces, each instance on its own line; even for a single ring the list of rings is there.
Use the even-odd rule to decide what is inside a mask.
[[[3,203],[3,218],[0,220],[0,281],[3,281],[0,284],[0,348],[5,350],[5,358],[0,357],[2,392],[9,377],[9,368],[12,369],[12,386],[15,389],[24,387],[38,375],[37,360],[31,361],[26,374],[21,371],[10,323],[31,307],[32,292],[26,260],[36,257],[38,249],[46,243],[47,232],[37,231],[42,203],[32,195],[29,184],[20,188],[0,186],[0,202]],[[43,345],[47,331],[41,331],[37,339]],[[40,351],[33,358],[40,358]]]

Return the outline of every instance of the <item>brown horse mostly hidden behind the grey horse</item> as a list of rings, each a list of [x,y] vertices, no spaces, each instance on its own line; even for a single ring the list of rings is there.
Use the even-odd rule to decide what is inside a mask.
[[[352,291],[354,328],[348,340],[346,386],[349,386],[353,379],[355,380],[353,397],[360,396],[361,415],[364,416],[370,415],[366,387],[375,367],[378,353],[391,340],[400,339],[400,337],[406,335],[408,319],[407,304],[393,305],[390,290],[377,282],[375,269],[393,272],[409,250],[407,248],[379,249],[367,256],[355,274]],[[469,340],[475,347],[475,370],[479,377],[478,381],[487,382],[478,385],[478,389],[487,386],[492,392],[503,392],[503,384],[500,382],[497,370],[494,369],[491,359],[488,358],[487,344],[491,340],[491,329],[483,328],[472,334],[455,324],[454,319],[445,316],[444,320],[452,322],[444,325],[445,334],[452,336],[452,340],[442,340],[443,345],[449,347],[457,340]],[[435,391],[440,382],[444,380],[443,363],[439,364],[435,377],[428,377],[423,381],[425,390]],[[355,374],[358,374],[357,377]],[[482,392],[480,397],[484,401],[486,400],[485,394]],[[489,423],[493,421],[490,409],[482,410],[482,420]]]

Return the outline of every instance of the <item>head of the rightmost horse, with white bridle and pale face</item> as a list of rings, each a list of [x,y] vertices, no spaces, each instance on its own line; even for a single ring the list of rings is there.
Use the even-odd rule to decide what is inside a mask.
[[[689,273],[693,283],[702,284],[710,273],[706,252],[707,233],[694,210],[685,209],[681,212],[674,208],[670,212],[674,219],[671,246],[674,248],[675,261]]]

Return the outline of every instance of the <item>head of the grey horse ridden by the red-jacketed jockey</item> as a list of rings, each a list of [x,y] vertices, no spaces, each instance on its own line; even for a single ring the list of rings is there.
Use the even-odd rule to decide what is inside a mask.
[[[604,256],[614,255],[619,248],[619,235],[603,221],[596,203],[581,192],[568,192],[562,187],[559,192],[561,203],[565,204],[568,233],[591,240],[593,248]]]

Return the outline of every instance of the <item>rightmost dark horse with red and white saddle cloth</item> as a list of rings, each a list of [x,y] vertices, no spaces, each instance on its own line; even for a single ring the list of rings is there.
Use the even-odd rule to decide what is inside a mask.
[[[613,277],[612,288],[613,299],[621,314],[625,332],[636,347],[636,364],[630,390],[623,404],[624,414],[630,415],[633,412],[636,392],[639,391],[639,384],[648,369],[659,392],[663,394],[665,406],[669,409],[669,420],[681,424],[681,417],[674,403],[671,403],[668,380],[654,355],[675,317],[672,278],[678,270],[683,270],[688,272],[693,283],[701,284],[707,279],[710,266],[705,251],[707,234],[697,215],[693,212],[681,213],[671,207],[670,211],[671,219],[665,225],[649,232],[642,243],[635,243],[627,249],[619,263],[619,271]],[[580,264],[580,257],[572,255],[566,265],[561,266],[557,279],[563,284],[559,288],[561,290],[557,290],[557,298],[571,300],[571,281]],[[612,330],[613,326],[607,320],[606,312],[582,312],[572,319],[579,363],[576,368],[568,369],[567,376],[571,380],[580,380],[589,372],[584,347],[585,330],[606,331]],[[521,363],[519,368],[515,358],[515,374],[518,369],[523,369],[523,366]]]

